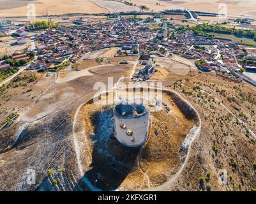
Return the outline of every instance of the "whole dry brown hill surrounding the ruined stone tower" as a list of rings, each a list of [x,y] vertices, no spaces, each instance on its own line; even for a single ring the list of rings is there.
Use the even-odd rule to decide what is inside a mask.
[[[189,64],[179,73],[181,64],[169,67],[159,59],[152,79],[163,82],[163,101],[172,112],[152,113],[149,140],[142,149],[131,150],[112,137],[111,107],[85,105],[96,92],[95,82],[107,84],[108,77],[114,77],[115,84],[126,77],[126,83],[137,61],[126,57],[129,63],[121,66],[122,57],[107,59],[111,66],[95,68],[90,61],[93,67],[84,67],[86,59],[80,71],[24,71],[1,90],[1,191],[256,188],[255,87]],[[179,93],[198,117],[189,117],[193,114],[188,114],[188,103],[168,91]],[[199,118],[200,134],[188,152],[180,152]],[[26,183],[28,168],[36,171],[36,185]],[[227,183],[221,184],[218,179],[226,173]]]

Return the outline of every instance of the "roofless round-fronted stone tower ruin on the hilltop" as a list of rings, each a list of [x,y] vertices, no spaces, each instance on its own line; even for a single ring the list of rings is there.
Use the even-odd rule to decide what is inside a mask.
[[[114,108],[114,136],[127,147],[141,147],[147,140],[149,108],[120,103]]]

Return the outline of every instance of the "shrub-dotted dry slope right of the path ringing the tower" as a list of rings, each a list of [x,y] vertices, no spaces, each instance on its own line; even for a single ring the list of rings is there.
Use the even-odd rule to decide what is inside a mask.
[[[202,119],[202,131],[192,145],[188,165],[170,189],[255,189],[255,88],[198,71],[186,76],[169,75],[168,79],[165,85],[190,101]],[[218,182],[223,172],[227,172],[227,185]]]

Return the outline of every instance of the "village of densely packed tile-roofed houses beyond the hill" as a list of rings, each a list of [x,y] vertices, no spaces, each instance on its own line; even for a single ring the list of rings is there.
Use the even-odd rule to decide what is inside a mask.
[[[244,45],[233,41],[196,34],[188,26],[172,23],[170,18],[115,15],[107,20],[86,22],[79,19],[69,26],[53,25],[47,29],[34,29],[10,21],[1,24],[1,36],[13,36],[16,41],[11,41],[15,44],[11,46],[25,45],[26,48],[12,55],[4,52],[0,70],[8,71],[26,64],[29,65],[27,69],[37,71],[77,70],[77,63],[83,61],[84,55],[116,47],[115,56],[137,55],[144,66],[154,66],[154,56],[179,55],[194,62],[200,71],[216,71],[236,82],[244,80],[256,85],[253,79],[243,75],[245,70],[256,70],[256,54],[248,53]],[[127,63],[125,60],[120,62]]]

